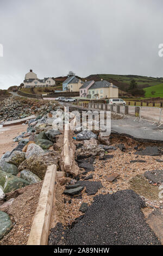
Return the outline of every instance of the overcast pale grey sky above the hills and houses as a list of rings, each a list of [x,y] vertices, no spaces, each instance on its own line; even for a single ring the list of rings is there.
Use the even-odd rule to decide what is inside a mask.
[[[0,0],[0,88],[43,77],[163,77],[161,0]]]

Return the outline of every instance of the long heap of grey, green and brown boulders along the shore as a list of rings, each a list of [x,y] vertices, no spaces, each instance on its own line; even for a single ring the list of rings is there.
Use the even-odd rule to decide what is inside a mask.
[[[15,97],[10,97],[1,109],[0,119],[5,120],[23,118],[26,114],[33,114],[33,111],[39,115],[27,121],[27,132],[22,132],[14,138],[14,142],[18,142],[17,147],[5,153],[0,159],[0,205],[7,199],[5,193],[40,182],[45,176],[47,166],[56,164],[57,169],[60,169],[60,148],[58,151],[54,151],[53,148],[56,137],[61,133],[52,127],[58,105],[54,102],[16,100]],[[60,108],[62,109],[62,106]],[[7,200],[5,203],[10,202]],[[0,211],[0,239],[12,227],[6,209]]]

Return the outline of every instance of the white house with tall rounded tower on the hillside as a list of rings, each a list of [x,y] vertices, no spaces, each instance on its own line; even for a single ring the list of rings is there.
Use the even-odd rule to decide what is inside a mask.
[[[37,75],[30,69],[25,76],[23,81],[24,88],[31,88],[31,87],[52,87],[55,86],[55,80],[51,77],[45,77],[44,79],[37,78]]]

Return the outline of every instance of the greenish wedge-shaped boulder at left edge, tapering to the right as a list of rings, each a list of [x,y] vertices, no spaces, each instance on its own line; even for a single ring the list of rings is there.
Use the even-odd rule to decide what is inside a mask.
[[[3,188],[3,192],[8,193],[29,185],[29,182],[0,170],[0,185]]]

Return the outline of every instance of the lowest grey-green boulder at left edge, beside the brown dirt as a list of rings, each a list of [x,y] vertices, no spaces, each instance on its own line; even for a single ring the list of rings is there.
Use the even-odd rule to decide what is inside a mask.
[[[7,235],[12,228],[12,222],[8,214],[0,211],[0,240]]]

